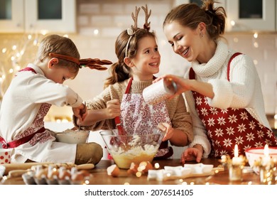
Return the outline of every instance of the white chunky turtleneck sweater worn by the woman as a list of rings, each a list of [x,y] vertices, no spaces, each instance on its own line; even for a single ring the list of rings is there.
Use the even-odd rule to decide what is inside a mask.
[[[253,60],[247,55],[234,58],[230,65],[229,81],[227,80],[227,65],[234,53],[223,41],[218,41],[214,56],[208,63],[192,62],[195,79],[212,85],[214,98],[207,97],[210,106],[220,109],[245,108],[261,124],[270,128],[264,111],[261,82]],[[189,72],[185,74],[185,78],[189,78]],[[190,147],[201,144],[204,149],[203,158],[207,158],[211,151],[210,141],[207,139],[207,130],[195,110],[195,99],[191,91],[185,92],[185,99],[192,116],[195,134]]]

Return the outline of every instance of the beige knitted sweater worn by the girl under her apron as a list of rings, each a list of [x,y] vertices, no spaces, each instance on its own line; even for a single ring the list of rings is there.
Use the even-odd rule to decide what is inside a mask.
[[[129,79],[130,80],[130,79]],[[94,97],[94,99],[87,100],[88,109],[104,109],[107,107],[107,102],[112,99],[119,99],[122,101],[122,97],[125,93],[126,87],[129,80],[124,82],[116,82],[114,85],[109,85],[100,95]],[[143,89],[151,85],[153,80],[148,81],[136,81],[133,80],[131,84],[130,94],[139,93],[142,94]],[[192,120],[190,114],[187,112],[185,107],[185,100],[182,95],[175,97],[170,100],[165,101],[166,107],[168,109],[168,114],[170,121],[172,122],[172,127],[175,129],[182,130],[188,136],[188,141],[191,142],[193,139],[192,134]],[[92,124],[89,129],[99,130],[99,129],[115,129],[114,119],[107,119],[101,122]]]

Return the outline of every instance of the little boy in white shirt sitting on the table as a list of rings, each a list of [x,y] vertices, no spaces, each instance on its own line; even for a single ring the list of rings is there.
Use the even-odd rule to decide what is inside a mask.
[[[73,79],[81,67],[111,64],[98,59],[80,60],[75,44],[62,36],[41,41],[34,63],[20,70],[6,91],[0,111],[0,143],[13,149],[11,162],[98,163],[102,147],[96,143],[65,144],[44,128],[43,119],[52,104],[70,106],[80,121],[87,112],[82,98],[63,82]],[[85,114],[81,114],[85,110]]]

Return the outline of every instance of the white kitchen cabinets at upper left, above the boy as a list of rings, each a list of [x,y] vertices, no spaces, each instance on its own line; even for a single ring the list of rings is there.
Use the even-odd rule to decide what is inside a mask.
[[[76,31],[76,0],[0,0],[2,2],[6,6],[0,9],[0,16],[4,15],[0,18],[0,33]]]

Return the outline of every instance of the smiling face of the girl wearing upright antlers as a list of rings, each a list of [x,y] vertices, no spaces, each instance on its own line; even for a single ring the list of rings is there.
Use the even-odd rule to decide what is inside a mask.
[[[158,73],[161,55],[156,39],[147,36],[138,42],[136,56],[131,58],[134,80],[151,80]]]

